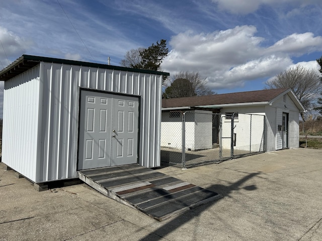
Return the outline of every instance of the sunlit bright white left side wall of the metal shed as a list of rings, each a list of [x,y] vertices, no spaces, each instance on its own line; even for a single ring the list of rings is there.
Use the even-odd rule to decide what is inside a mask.
[[[39,66],[5,82],[2,161],[36,180]]]

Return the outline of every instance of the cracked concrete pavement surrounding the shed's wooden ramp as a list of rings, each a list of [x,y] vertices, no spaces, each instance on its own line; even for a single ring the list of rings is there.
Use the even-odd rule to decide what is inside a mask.
[[[321,156],[292,149],[159,169],[224,196],[163,222],[86,184],[37,192],[0,163],[0,240],[321,240]]]

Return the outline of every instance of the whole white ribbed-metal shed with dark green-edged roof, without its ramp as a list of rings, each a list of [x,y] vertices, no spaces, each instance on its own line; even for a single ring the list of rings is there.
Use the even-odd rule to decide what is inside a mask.
[[[2,161],[35,183],[89,168],[159,166],[163,75],[21,56],[0,71]]]

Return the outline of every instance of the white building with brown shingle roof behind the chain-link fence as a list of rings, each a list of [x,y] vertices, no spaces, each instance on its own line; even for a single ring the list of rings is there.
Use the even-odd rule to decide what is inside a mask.
[[[167,128],[162,128],[161,143],[162,146],[167,147],[170,146],[169,143],[175,143],[172,142],[172,140],[166,140],[166,137],[170,136],[170,133],[174,131],[169,123],[180,122],[183,117],[183,113],[185,112],[200,114],[216,113],[217,115],[220,114],[222,116],[232,113],[236,113],[235,115],[239,113],[240,116],[241,113],[246,113],[265,116],[263,129],[260,128],[260,130],[264,131],[263,143],[261,144],[264,146],[264,151],[268,152],[287,148],[297,148],[299,146],[299,113],[304,111],[305,109],[303,105],[290,88],[163,99],[162,127],[167,126]],[[175,119],[173,116],[177,116],[176,121],[174,121]],[[217,124],[213,123],[212,125],[209,125],[209,127],[211,126],[215,131],[208,130],[208,132],[203,132],[203,141],[205,139],[209,140],[208,145],[204,146],[205,149],[212,148],[214,144],[222,144],[219,129],[223,128],[225,125],[227,128],[230,128],[230,124],[227,125],[228,121],[226,117],[220,118],[221,121],[220,119],[218,121],[218,118],[216,119],[218,122]],[[235,122],[237,121],[235,120]],[[198,123],[195,124],[195,128],[200,128]],[[241,127],[240,117],[238,127],[239,129],[243,129]],[[178,129],[178,126],[175,129]],[[195,129],[194,133],[200,132],[200,130],[196,130],[197,129]],[[243,143],[246,142],[245,135],[238,133],[237,130],[238,128],[235,128],[232,133],[233,135],[231,135],[234,136],[236,140],[231,141],[234,142],[234,145],[238,145],[236,143],[239,141],[240,146],[242,146]],[[260,135],[262,135],[262,133],[259,131],[257,136]],[[241,138],[241,136],[243,136],[243,138]],[[192,146],[186,147],[186,149],[202,149],[200,146],[199,148],[196,148],[198,146],[196,142],[197,140],[190,142],[193,143]]]

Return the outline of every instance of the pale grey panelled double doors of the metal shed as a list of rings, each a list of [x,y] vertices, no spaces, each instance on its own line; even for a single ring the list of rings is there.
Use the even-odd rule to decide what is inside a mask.
[[[137,163],[138,97],[81,91],[78,170]]]

